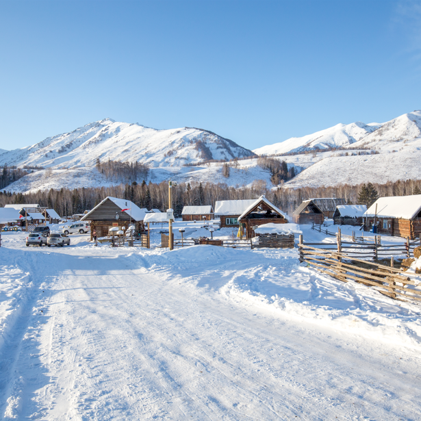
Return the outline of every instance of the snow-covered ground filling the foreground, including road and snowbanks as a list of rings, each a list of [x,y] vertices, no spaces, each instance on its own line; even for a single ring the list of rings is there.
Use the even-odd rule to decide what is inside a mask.
[[[421,418],[421,306],[320,275],[296,249],[71,242],[2,233],[5,420]]]

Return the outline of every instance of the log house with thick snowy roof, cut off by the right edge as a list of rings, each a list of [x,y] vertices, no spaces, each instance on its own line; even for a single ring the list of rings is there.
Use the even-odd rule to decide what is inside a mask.
[[[380,234],[420,238],[421,194],[381,197],[367,209],[364,222],[368,230],[375,223]]]

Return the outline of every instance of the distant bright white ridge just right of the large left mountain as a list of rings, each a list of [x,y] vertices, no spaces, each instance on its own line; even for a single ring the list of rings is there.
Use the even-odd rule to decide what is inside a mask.
[[[316,131],[316,133],[303,136],[302,138],[290,138],[284,142],[262,146],[254,149],[257,155],[276,155],[280,153],[300,152],[309,149],[327,149],[346,147],[355,144],[368,136],[372,131],[379,129],[381,125],[371,123],[366,125],[357,121],[348,125],[338,124],[329,129]]]

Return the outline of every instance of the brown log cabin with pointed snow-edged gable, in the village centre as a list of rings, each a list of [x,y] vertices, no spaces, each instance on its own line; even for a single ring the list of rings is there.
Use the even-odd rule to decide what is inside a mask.
[[[244,209],[244,212],[238,217],[238,222],[241,224],[242,234],[246,235],[246,238],[253,238],[256,236],[255,229],[259,225],[286,224],[288,216],[270,203],[265,196],[260,196]]]

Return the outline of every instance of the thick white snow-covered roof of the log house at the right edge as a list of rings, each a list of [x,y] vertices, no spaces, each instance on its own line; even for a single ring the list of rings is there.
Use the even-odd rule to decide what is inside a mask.
[[[379,218],[412,219],[421,212],[421,194],[381,197],[367,209],[363,216],[374,216],[376,205]]]

